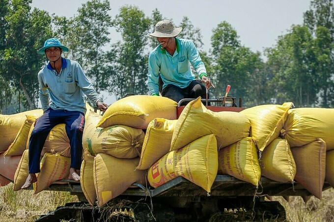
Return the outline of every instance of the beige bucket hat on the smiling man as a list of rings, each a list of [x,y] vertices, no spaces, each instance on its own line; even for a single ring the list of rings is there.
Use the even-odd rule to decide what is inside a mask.
[[[163,20],[155,25],[154,32],[148,34],[153,37],[170,38],[175,37],[182,31],[182,27],[175,28],[170,20]]]

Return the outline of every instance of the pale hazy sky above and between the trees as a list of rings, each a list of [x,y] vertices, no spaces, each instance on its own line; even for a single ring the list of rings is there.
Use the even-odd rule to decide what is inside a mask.
[[[67,18],[77,15],[77,10],[87,0],[32,0],[32,7]],[[162,16],[172,19],[175,25],[187,16],[201,30],[203,49],[211,48],[212,30],[223,21],[236,29],[241,44],[252,51],[263,52],[273,47],[278,36],[287,33],[291,25],[303,24],[303,13],[309,9],[311,0],[110,0],[112,19],[123,5],[137,5],[146,16],[151,17],[157,8]],[[111,41],[119,40],[118,33],[111,32]],[[150,38],[150,37],[148,37]],[[104,95],[111,104],[112,96]]]

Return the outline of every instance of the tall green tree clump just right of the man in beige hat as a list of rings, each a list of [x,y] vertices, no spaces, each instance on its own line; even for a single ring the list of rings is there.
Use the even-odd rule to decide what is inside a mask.
[[[266,101],[263,92],[267,92],[267,88],[260,54],[242,46],[236,30],[227,22],[213,30],[211,45],[215,96],[224,96],[226,85],[231,85],[230,95],[244,98],[248,106]]]

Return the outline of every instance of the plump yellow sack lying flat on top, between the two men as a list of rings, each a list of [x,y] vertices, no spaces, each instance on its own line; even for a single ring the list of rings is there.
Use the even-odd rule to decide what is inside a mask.
[[[112,103],[96,127],[127,125],[146,129],[155,118],[176,119],[177,103],[166,97],[136,95]]]

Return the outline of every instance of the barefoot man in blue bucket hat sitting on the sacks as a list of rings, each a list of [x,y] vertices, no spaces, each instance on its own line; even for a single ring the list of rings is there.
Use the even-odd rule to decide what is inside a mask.
[[[76,61],[61,56],[68,48],[56,38],[45,41],[38,54],[45,54],[50,61],[38,73],[39,99],[44,114],[35,122],[29,139],[29,174],[22,189],[28,189],[37,181],[40,172],[40,155],[50,130],[60,123],[65,123],[66,133],[71,147],[71,166],[69,179],[80,180],[78,170],[81,167],[83,152],[83,127],[86,111],[83,94],[101,110],[108,105],[101,102],[97,92],[83,73]]]

